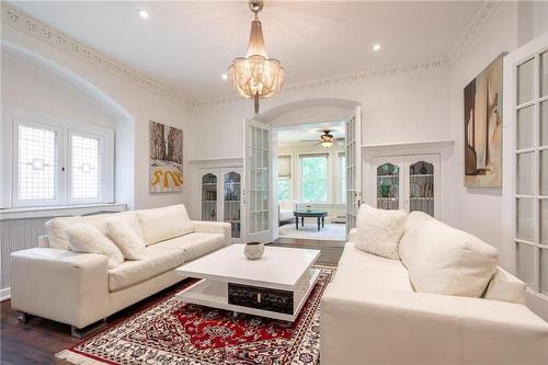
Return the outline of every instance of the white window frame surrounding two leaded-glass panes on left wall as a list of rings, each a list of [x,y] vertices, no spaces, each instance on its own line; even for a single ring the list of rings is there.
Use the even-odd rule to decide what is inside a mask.
[[[114,203],[114,129],[88,123],[79,123],[69,119],[56,118],[38,113],[23,110],[11,110],[9,112],[11,123],[11,158],[5,161],[11,168],[9,175],[3,181],[9,187],[2,192],[2,207],[47,207],[47,206],[71,206],[82,204],[110,204]],[[35,126],[37,128],[50,129],[58,133],[57,147],[57,186],[55,201],[20,201],[19,199],[19,125]],[[9,132],[9,130],[7,130]],[[70,135],[92,136],[100,138],[101,145],[101,186],[96,199],[71,199],[70,198]],[[2,141],[3,142],[3,141]],[[65,171],[62,171],[65,168]],[[5,195],[4,195],[5,194]],[[9,194],[9,198],[8,195]]]

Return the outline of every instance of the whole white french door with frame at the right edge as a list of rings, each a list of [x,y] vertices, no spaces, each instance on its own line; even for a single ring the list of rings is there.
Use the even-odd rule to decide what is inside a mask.
[[[504,59],[506,266],[548,319],[548,33]]]

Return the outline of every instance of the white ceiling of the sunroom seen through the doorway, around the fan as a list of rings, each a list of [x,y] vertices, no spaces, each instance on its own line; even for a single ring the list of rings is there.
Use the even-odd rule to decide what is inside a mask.
[[[318,144],[326,129],[329,129],[336,140],[344,140],[344,122],[293,125],[275,130],[279,146],[307,146]]]

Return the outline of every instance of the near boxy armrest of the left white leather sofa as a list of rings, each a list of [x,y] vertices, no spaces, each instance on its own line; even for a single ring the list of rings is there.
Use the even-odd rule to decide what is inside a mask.
[[[83,328],[109,316],[107,260],[35,248],[10,255],[12,308]]]

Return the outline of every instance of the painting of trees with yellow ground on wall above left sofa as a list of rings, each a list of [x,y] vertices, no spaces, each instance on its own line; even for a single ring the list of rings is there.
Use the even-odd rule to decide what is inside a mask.
[[[183,190],[183,130],[150,121],[150,192]]]

